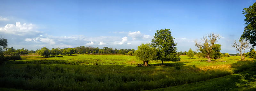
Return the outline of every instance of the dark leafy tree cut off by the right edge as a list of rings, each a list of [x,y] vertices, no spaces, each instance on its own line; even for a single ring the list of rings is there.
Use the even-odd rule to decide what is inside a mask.
[[[249,40],[249,43],[252,44],[252,50],[256,46],[256,2],[248,8],[244,8],[243,14],[245,14],[246,26],[240,40]]]

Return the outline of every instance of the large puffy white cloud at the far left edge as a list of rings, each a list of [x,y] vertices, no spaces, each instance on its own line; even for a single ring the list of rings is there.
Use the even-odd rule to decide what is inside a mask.
[[[15,25],[7,24],[4,27],[0,27],[0,32],[19,36],[37,35],[42,33],[41,31],[37,31],[36,26],[33,24],[21,24],[20,22],[16,22]]]

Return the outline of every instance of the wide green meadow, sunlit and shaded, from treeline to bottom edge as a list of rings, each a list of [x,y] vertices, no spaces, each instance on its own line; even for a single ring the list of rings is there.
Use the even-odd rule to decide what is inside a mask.
[[[181,61],[164,62],[164,66],[161,66],[161,61],[150,61],[147,67],[136,67],[136,64],[142,62],[135,56],[129,55],[88,54],[49,58],[29,55],[22,56],[22,60],[8,61],[0,65],[0,87],[47,91],[159,90],[157,88],[182,90],[181,88],[187,85],[195,88],[209,88],[202,87],[202,84],[198,85],[197,82],[206,82],[203,84],[211,85],[215,80],[210,79],[221,79],[219,77],[226,79],[225,77],[231,76],[229,78],[234,78],[231,82],[236,83],[241,78],[236,75],[243,76],[244,70],[253,67],[253,59],[246,58],[246,60],[241,62],[239,56],[231,56],[212,59],[212,62],[208,62],[204,58],[189,59],[187,56],[181,56]],[[223,79],[220,81],[225,81]],[[247,81],[253,82],[253,79]],[[232,86],[234,85],[230,88],[233,88]],[[244,89],[244,86],[239,87],[239,84],[235,84],[235,87]]]

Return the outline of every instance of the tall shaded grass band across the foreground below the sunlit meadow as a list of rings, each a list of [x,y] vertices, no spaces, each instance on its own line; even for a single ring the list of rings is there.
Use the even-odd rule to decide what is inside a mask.
[[[102,68],[100,66],[97,66]],[[95,68],[97,68],[95,67]],[[115,67],[112,67],[115,68]],[[86,69],[67,65],[20,64],[0,66],[0,86],[25,90],[140,91],[205,81],[232,74],[196,67],[117,66]],[[132,70],[129,70],[132,69]],[[134,70],[135,69],[135,70]]]

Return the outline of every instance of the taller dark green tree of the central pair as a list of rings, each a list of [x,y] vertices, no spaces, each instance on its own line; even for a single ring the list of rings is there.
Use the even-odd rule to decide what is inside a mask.
[[[157,30],[151,41],[152,46],[159,50],[156,60],[161,60],[162,65],[163,61],[180,61],[180,57],[176,55],[177,43],[174,43],[171,34],[170,29]]]

